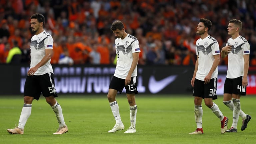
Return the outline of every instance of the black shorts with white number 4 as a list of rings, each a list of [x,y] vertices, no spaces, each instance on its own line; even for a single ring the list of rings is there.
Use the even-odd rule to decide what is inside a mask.
[[[224,93],[246,95],[246,86],[242,86],[243,76],[237,78],[226,78]]]

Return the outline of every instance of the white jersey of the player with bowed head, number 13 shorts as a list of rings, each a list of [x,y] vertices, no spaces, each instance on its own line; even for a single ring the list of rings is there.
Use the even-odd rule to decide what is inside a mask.
[[[115,40],[117,64],[114,76],[125,79],[132,66],[132,53],[140,52],[139,41],[132,35],[127,35],[123,40]],[[137,66],[132,72],[132,76],[137,76]]]

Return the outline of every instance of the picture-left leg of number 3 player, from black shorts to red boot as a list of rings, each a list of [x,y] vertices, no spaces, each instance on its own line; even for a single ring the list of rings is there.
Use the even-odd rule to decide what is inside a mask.
[[[203,134],[203,126],[202,126],[202,117],[203,117],[203,108],[202,108],[202,100],[203,100],[203,86],[204,81],[195,79],[194,82],[194,115],[196,121],[196,130],[189,134]]]

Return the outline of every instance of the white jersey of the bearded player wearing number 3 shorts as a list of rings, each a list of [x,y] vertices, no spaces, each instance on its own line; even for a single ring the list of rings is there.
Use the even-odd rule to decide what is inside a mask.
[[[198,55],[198,68],[196,72],[196,79],[204,80],[205,76],[210,72],[214,57],[213,55],[219,55],[219,44],[211,36],[204,39],[198,39],[196,41],[196,55]],[[218,67],[212,73],[212,77],[218,77]]]

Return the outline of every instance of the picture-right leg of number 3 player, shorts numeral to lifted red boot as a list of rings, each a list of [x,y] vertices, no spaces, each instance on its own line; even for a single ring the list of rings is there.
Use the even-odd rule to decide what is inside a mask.
[[[217,99],[216,91],[217,91],[217,78],[212,78],[208,84],[205,84],[204,87],[204,103],[207,107],[209,107],[212,112],[220,119],[221,122],[221,133],[225,133],[228,126],[228,118],[225,117],[220,111],[218,105],[214,103],[212,100]]]

